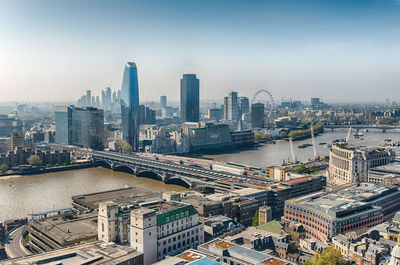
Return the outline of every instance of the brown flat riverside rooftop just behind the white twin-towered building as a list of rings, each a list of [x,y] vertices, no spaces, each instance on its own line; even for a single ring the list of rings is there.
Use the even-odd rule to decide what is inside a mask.
[[[74,206],[95,210],[100,202],[113,201],[119,206],[135,204],[138,200],[161,197],[161,193],[150,192],[137,187],[128,187],[116,190],[72,196]]]

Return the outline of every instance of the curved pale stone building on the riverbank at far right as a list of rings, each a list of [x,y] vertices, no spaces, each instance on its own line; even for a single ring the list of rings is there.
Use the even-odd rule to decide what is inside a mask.
[[[329,152],[329,180],[335,184],[368,182],[368,170],[394,161],[395,153],[384,148],[335,144]]]

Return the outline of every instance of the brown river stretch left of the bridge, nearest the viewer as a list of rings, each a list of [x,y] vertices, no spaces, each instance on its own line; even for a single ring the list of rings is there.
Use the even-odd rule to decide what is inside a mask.
[[[87,168],[30,176],[0,178],[0,222],[32,212],[71,206],[74,195],[128,186],[151,191],[186,190],[106,168]]]

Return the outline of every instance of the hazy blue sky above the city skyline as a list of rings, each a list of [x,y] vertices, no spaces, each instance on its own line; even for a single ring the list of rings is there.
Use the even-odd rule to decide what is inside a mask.
[[[141,101],[230,91],[276,100],[400,100],[400,0],[0,0],[0,101],[73,101],[121,88]]]

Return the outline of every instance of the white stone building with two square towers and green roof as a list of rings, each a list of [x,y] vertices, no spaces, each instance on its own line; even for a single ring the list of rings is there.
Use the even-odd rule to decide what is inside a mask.
[[[100,203],[99,240],[127,243],[123,238],[128,235],[131,247],[143,253],[145,265],[204,242],[203,224],[192,205],[165,202],[161,198],[117,205]]]

